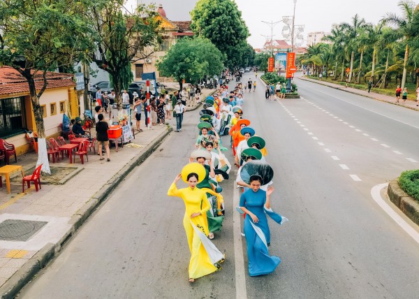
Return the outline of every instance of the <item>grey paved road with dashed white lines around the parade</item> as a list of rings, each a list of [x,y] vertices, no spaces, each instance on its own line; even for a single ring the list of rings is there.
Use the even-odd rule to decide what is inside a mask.
[[[419,245],[370,190],[418,168],[418,112],[300,80],[304,99],[266,101],[258,83],[244,116],[267,141],[272,205],[290,221],[271,226],[279,268],[246,276],[239,291],[247,298],[417,298]],[[196,115],[127,177],[21,298],[235,297],[232,182],[223,184],[226,220],[214,240],[228,259],[193,285],[183,203],[166,196],[192,149]]]

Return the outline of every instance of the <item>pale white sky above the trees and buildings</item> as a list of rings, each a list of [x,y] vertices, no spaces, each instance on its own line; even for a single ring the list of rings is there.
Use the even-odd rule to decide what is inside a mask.
[[[197,0],[138,0],[140,3],[163,4],[169,20],[191,20],[190,11]],[[270,25],[265,22],[277,22],[284,15],[293,15],[293,0],[235,0],[251,36],[247,39],[253,48],[262,48],[266,37],[270,36]],[[376,24],[386,13],[401,15],[397,0],[297,0],[295,4],[295,24],[304,24],[304,39],[313,31],[330,31],[332,24],[351,22],[358,13],[367,22]],[[135,7],[137,0],[128,0],[128,7]],[[281,31],[284,23],[274,26],[274,39],[284,39]],[[305,43],[305,42],[304,42]],[[303,43],[303,45],[304,45]]]

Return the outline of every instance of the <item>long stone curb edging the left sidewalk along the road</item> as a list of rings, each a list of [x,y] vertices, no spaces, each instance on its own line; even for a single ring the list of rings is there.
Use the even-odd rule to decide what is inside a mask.
[[[161,145],[164,138],[166,138],[172,128],[169,127],[166,131],[161,133],[153,143],[147,145],[145,151],[140,154],[136,159],[129,161],[124,168],[118,171],[106,184],[103,185],[101,190],[97,191],[94,196],[89,198],[80,210],[75,212],[71,220],[71,228],[64,234],[64,236],[57,242],[57,245],[48,243],[38,253],[25,263],[22,268],[8,279],[8,281],[0,287],[0,298],[13,299],[22,288],[31,281],[31,279],[47,265],[47,263],[57,256],[61,247],[73,236],[73,234],[82,226],[89,216],[96,210],[97,207],[103,203],[103,201],[112,193],[117,185],[124,180],[126,175],[133,170],[136,166],[139,166],[145,159],[147,159],[154,150]]]

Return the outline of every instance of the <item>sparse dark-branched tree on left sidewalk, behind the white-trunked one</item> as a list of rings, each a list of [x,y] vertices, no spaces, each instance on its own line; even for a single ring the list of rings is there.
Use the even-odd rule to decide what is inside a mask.
[[[131,61],[149,57],[159,41],[159,21],[154,6],[140,4],[134,13],[124,8],[125,0],[107,0],[94,6],[94,38],[98,51],[92,54],[99,68],[107,71],[121,108],[122,89],[133,80]]]

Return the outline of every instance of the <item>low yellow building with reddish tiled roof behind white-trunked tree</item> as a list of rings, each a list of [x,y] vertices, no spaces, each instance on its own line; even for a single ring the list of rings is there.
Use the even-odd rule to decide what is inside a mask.
[[[61,133],[59,124],[63,114],[72,117],[80,114],[75,93],[74,75],[47,72],[47,87],[39,103],[43,109],[45,136],[57,137]],[[43,72],[35,75],[36,91],[43,87]],[[17,154],[30,150],[25,131],[36,132],[33,107],[29,96],[27,80],[14,68],[0,68],[0,138],[13,143]]]

